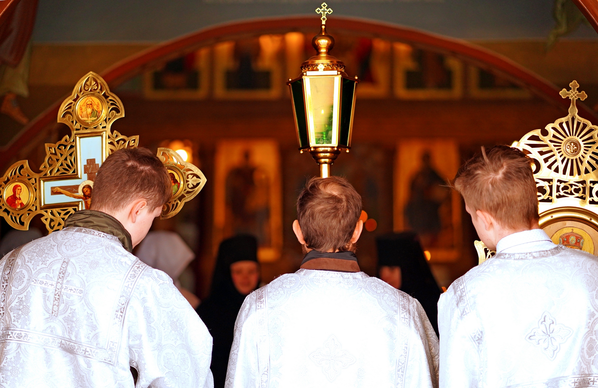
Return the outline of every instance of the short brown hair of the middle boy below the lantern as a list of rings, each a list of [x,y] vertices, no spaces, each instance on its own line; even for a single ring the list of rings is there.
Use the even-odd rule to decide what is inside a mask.
[[[297,220],[307,248],[348,250],[361,215],[361,196],[344,178],[311,178],[297,198]]]

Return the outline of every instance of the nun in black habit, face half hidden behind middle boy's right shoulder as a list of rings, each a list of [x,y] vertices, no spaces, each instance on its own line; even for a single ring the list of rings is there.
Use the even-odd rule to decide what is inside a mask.
[[[376,243],[380,279],[416,298],[438,335],[437,304],[441,291],[417,235],[412,232],[394,233],[380,236]]]

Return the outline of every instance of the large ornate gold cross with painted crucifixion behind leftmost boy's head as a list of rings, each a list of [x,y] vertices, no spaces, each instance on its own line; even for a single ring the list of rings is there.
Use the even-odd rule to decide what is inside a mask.
[[[41,214],[48,231],[53,232],[62,229],[69,215],[89,208],[102,162],[115,150],[138,145],[139,136],[126,137],[111,130],[121,117],[123,103],[102,77],[89,72],[81,78],[58,111],[58,122],[68,125],[71,135],[56,144],[45,144],[40,173],[34,173],[28,161],[19,161],[0,180],[0,214],[8,224],[27,230],[32,218]],[[206,177],[171,149],[158,148],[157,156],[173,185],[172,198],[161,214],[161,218],[169,218],[202,190]]]

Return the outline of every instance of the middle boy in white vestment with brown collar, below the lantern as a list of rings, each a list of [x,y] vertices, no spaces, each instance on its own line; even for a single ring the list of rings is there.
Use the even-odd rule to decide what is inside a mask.
[[[225,387],[437,387],[438,339],[419,302],[359,270],[361,197],[312,178],[293,230],[301,269],[245,298]]]

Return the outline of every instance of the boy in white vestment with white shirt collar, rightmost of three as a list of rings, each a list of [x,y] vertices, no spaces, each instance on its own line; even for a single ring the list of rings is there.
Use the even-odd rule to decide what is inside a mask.
[[[495,146],[454,180],[497,253],[440,297],[443,388],[598,386],[598,258],[539,229],[530,163]]]

